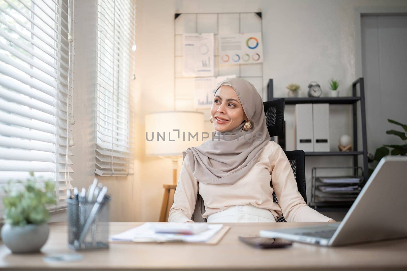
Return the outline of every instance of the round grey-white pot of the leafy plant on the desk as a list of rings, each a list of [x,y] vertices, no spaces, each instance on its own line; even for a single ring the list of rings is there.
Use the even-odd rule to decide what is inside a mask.
[[[49,228],[46,223],[14,226],[4,224],[1,238],[13,253],[39,252],[48,239]]]

